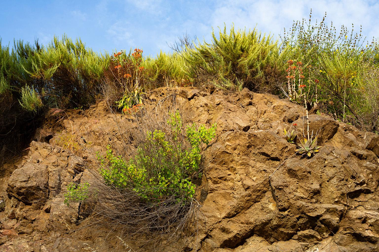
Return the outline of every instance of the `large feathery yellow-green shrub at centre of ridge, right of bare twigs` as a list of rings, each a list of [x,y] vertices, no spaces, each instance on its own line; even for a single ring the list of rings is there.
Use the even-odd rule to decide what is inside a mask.
[[[208,79],[214,85],[240,90],[248,87],[259,90],[264,82],[267,67],[277,67],[279,48],[277,41],[253,31],[220,29],[218,35],[212,32],[212,42],[195,46],[184,53],[189,63],[189,76]]]

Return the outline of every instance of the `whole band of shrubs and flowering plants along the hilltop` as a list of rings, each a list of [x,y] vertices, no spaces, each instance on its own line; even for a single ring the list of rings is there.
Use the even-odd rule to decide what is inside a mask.
[[[280,40],[256,29],[225,27],[210,42],[184,39],[174,53],[155,58],[140,49],[99,54],[66,35],[47,45],[18,40],[12,49],[0,42],[2,152],[25,146],[29,139],[20,132],[30,135],[48,109],[87,108],[105,98],[127,113],[149,90],[175,86],[246,87],[282,97],[301,88],[309,106],[377,132],[378,43],[369,43],[361,31],[342,27],[338,33],[324,19],[298,21]]]

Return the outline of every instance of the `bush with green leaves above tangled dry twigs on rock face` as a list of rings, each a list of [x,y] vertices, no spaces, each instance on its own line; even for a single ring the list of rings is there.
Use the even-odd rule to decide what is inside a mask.
[[[108,195],[99,200],[108,210],[98,213],[132,232],[172,232],[188,221],[201,154],[215,137],[215,125],[184,129],[179,112],[162,123],[146,132],[131,158],[115,155],[109,146],[106,156],[99,156],[103,184],[98,195]]]

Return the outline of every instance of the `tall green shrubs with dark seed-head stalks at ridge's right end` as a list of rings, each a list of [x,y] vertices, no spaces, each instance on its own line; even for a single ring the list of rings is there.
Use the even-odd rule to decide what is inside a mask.
[[[372,85],[379,69],[378,45],[362,37],[362,28],[354,32],[354,26],[351,31],[342,26],[337,33],[333,24],[326,25],[325,18],[315,24],[310,18],[308,22],[294,22],[292,29],[284,33],[281,55],[303,62],[304,69],[311,65],[304,71],[308,80],[304,91],[310,93],[311,104],[315,104],[317,90],[318,107],[323,112],[376,131],[379,98],[371,94],[378,93],[377,86]]]

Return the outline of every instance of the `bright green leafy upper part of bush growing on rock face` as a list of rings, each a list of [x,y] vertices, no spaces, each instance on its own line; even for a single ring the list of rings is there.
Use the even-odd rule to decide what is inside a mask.
[[[216,126],[188,126],[182,132],[179,112],[167,122],[171,132],[150,131],[134,158],[114,156],[108,146],[105,158],[99,157],[100,173],[109,186],[133,190],[143,201],[155,202],[174,197],[189,202],[194,195],[193,179],[199,176],[201,151],[215,137]],[[189,146],[185,146],[185,137]]]

